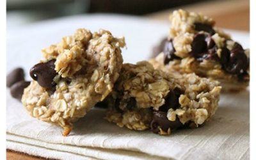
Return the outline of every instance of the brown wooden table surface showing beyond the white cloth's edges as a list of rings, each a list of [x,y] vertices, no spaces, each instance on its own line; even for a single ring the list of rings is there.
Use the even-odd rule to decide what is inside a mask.
[[[204,15],[212,17],[216,21],[216,26],[220,28],[237,29],[250,31],[250,1],[246,0],[226,0],[226,1],[209,1],[196,3],[187,6],[180,6],[189,12],[202,12]],[[144,17],[147,19],[168,20],[170,13],[179,8],[171,8],[161,12],[150,13]],[[12,150],[6,151],[8,160],[42,160],[42,157],[28,156]]]

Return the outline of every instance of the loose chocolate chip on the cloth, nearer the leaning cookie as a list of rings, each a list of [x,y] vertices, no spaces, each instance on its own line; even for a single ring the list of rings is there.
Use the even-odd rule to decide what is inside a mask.
[[[10,92],[13,98],[15,99],[21,99],[22,94],[24,92],[24,88],[29,86],[30,82],[28,81],[19,81],[15,84],[13,84],[10,88]]]

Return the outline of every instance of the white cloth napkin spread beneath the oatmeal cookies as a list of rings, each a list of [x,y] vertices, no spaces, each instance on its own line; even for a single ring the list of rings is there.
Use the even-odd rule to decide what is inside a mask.
[[[79,15],[17,26],[7,31],[7,71],[24,67],[26,73],[42,55],[40,49],[59,42],[77,28],[109,29],[125,36],[125,62],[147,60],[152,46],[168,34],[168,22],[116,15]],[[232,32],[249,47],[249,34]],[[26,78],[29,75],[26,74]],[[249,92],[222,94],[220,108],[204,127],[184,129],[170,136],[131,131],[103,119],[104,109],[93,109],[76,122],[68,137],[62,129],[32,118],[22,104],[6,93],[7,148],[55,159],[248,159]]]

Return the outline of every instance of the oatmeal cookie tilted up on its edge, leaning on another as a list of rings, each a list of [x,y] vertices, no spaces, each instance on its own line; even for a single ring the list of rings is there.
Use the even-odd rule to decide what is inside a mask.
[[[109,31],[77,29],[42,49],[44,60],[31,68],[34,81],[24,90],[22,103],[31,116],[60,125],[67,136],[72,123],[112,91],[124,46],[124,37]]]

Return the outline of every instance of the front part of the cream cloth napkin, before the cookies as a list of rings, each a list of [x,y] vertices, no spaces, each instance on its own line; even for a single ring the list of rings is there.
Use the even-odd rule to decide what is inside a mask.
[[[19,152],[55,159],[249,159],[248,91],[222,94],[220,108],[204,127],[170,136],[120,128],[95,108],[63,137],[60,127],[30,117],[6,95],[7,148]]]

